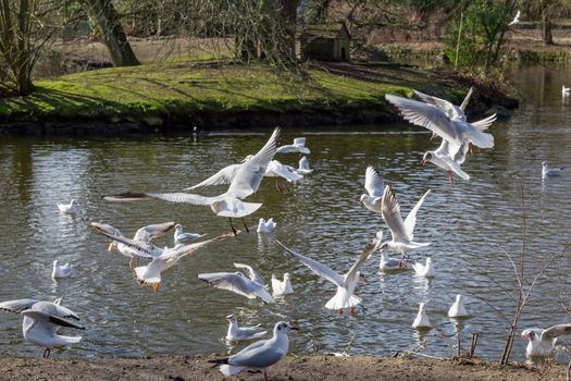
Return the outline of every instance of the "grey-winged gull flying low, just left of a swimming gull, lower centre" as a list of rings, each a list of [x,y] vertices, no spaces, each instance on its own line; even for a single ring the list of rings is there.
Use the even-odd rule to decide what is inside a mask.
[[[234,263],[240,265],[240,263]],[[250,268],[251,269],[251,268]],[[253,269],[252,269],[253,270]],[[207,282],[213,287],[232,291],[249,299],[261,298],[264,303],[273,303],[274,298],[262,283],[255,282],[239,271],[236,272],[210,272],[198,274],[198,279]]]

